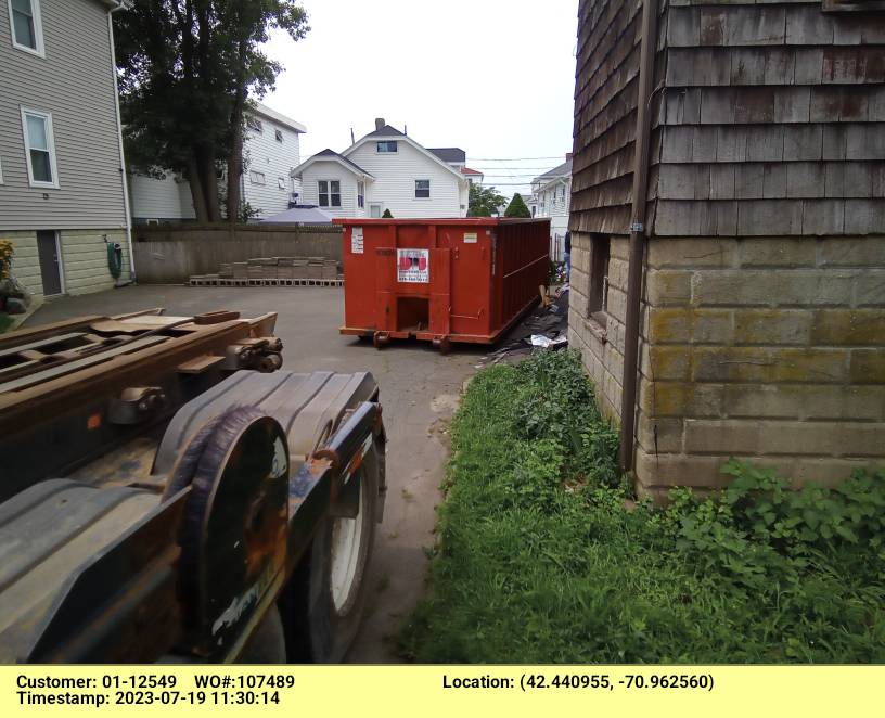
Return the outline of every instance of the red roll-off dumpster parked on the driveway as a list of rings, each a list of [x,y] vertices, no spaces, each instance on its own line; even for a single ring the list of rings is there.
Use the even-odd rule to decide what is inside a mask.
[[[336,219],[342,334],[493,344],[547,284],[549,219]]]

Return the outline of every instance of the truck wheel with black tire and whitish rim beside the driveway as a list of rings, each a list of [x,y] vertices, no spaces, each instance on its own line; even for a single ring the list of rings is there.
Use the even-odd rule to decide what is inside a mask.
[[[360,482],[357,517],[323,520],[280,598],[291,663],[339,663],[357,634],[368,593],[383,450],[375,441],[350,479]]]

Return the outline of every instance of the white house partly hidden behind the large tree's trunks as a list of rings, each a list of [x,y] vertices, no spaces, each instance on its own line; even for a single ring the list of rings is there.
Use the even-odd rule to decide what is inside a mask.
[[[300,163],[299,136],[307,131],[300,123],[271,110],[260,102],[246,120],[243,141],[243,175],[240,179],[244,203],[258,213],[258,218],[271,217],[299,201],[300,182],[292,177],[292,168]],[[222,191],[227,188],[225,172],[219,174]],[[188,180],[166,172],[164,179],[132,175],[132,221],[177,222],[195,218]]]

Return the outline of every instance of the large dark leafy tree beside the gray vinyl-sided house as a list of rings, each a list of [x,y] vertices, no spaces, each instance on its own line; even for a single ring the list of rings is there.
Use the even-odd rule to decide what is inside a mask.
[[[116,22],[129,162],[154,177],[184,176],[201,221],[220,219],[218,174],[227,164],[234,218],[248,97],[264,97],[283,69],[259,46],[271,28],[303,38],[307,13],[296,0],[138,0]]]

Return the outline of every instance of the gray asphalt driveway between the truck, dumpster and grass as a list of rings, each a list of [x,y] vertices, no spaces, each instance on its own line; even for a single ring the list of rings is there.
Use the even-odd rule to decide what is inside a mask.
[[[456,348],[444,357],[419,343],[393,343],[379,351],[341,336],[344,295],[336,287],[129,286],[49,302],[26,326],[148,307],[165,307],[166,313],[180,316],[217,309],[239,310],[244,317],[277,311],[285,369],[370,371],[375,376],[388,436],[387,503],[370,566],[367,614],[348,659],[397,662],[386,637],[424,591],[424,548],[434,542],[434,507],[440,499],[447,458],[444,432],[462,384],[485,351]]]

